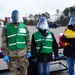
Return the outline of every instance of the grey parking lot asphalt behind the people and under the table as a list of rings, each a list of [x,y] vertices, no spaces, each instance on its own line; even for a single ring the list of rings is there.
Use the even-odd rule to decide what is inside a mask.
[[[63,33],[66,27],[58,27],[58,28],[49,28],[50,31],[52,31],[55,35],[55,38],[58,42],[58,35],[59,33]],[[35,26],[28,26],[29,32],[30,32],[30,38],[32,34],[37,31]],[[0,35],[2,32],[2,28],[0,27]],[[1,37],[0,37],[0,47],[1,47]],[[62,62],[66,65],[65,60],[55,61],[57,63]],[[54,63],[55,63],[54,62]],[[4,69],[7,69],[6,63],[3,61],[3,59],[0,59],[0,70],[3,69],[3,71],[0,71],[0,75],[11,75],[10,71],[4,71]],[[61,64],[53,64],[50,65],[50,75],[68,75],[67,70],[64,70],[65,67]]]

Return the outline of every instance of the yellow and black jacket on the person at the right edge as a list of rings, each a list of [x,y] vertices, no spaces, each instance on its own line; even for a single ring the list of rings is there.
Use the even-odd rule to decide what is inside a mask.
[[[63,42],[66,42],[64,47],[64,55],[67,57],[75,58],[75,30],[66,28],[64,35],[61,37]]]

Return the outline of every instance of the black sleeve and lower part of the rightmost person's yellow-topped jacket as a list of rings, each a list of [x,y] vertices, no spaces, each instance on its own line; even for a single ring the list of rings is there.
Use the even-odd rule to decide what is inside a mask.
[[[64,55],[67,57],[75,58],[75,38],[66,38],[66,36],[63,35],[61,37],[61,41],[70,44],[64,47],[64,51],[63,51]]]

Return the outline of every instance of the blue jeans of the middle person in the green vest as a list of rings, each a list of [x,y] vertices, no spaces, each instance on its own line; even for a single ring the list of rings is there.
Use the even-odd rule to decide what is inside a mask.
[[[50,62],[39,62],[39,75],[49,75]]]

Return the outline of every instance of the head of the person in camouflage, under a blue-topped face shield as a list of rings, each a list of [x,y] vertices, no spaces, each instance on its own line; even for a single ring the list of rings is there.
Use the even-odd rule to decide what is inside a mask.
[[[13,10],[11,13],[11,19],[13,23],[23,22],[22,17],[18,10]]]

